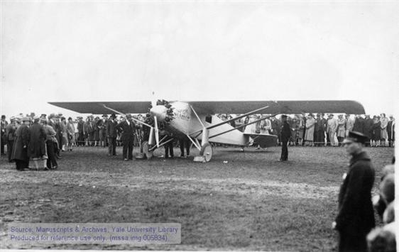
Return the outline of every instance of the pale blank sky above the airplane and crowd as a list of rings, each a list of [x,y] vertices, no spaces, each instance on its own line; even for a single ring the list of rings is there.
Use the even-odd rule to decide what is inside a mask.
[[[1,1],[1,114],[156,98],[351,99],[397,115],[397,13],[393,1]]]

